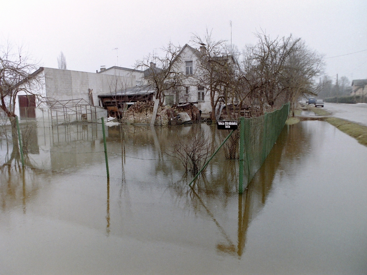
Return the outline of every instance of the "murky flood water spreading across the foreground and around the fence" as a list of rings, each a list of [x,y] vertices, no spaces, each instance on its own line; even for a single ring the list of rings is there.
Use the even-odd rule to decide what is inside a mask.
[[[75,148],[40,135],[32,150],[42,155],[52,144],[42,162],[48,170],[2,168],[1,275],[367,273],[367,147],[352,137],[323,121],[286,125],[239,195],[218,188],[227,174],[214,189],[180,184],[179,165],[165,167],[154,133],[139,131],[150,142],[131,142],[121,178],[80,172],[104,171],[104,156],[62,157],[55,152]],[[100,134],[80,143],[103,151],[93,138]],[[113,144],[117,152],[121,144]],[[139,151],[154,169],[129,158]],[[157,182],[141,180],[143,173]]]

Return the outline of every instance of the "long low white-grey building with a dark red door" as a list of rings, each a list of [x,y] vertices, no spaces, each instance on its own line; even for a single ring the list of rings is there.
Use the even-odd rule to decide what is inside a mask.
[[[50,118],[72,122],[106,116],[98,94],[115,94],[135,87],[135,78],[40,67],[34,72],[40,87],[32,94],[19,92],[15,114],[21,119]]]

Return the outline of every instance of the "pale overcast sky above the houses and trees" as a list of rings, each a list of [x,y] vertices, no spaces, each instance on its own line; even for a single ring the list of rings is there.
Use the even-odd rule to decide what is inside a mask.
[[[256,42],[256,30],[273,38],[293,34],[325,55],[326,73],[334,80],[336,74],[367,78],[366,0],[1,0],[0,6],[1,43],[26,45],[45,67],[57,68],[63,51],[69,70],[132,68],[169,41],[185,45],[207,27],[215,39],[230,40],[232,21],[232,43],[239,49]],[[338,55],[345,56],[329,58]]]

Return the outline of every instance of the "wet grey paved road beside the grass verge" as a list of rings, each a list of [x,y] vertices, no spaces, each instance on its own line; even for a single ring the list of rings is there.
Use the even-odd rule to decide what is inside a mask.
[[[324,109],[333,117],[343,118],[367,126],[367,104],[325,102]]]

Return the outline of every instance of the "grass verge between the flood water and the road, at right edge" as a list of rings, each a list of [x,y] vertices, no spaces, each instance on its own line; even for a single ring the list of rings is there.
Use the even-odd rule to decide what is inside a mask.
[[[367,146],[367,126],[359,125],[337,117],[325,118],[325,121],[337,127],[340,131],[354,137],[360,144]]]

